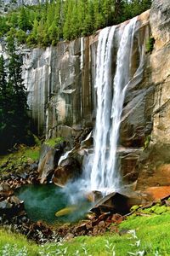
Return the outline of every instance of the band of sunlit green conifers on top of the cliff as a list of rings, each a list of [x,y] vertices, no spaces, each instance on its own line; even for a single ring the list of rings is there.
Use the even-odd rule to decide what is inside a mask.
[[[89,35],[150,9],[151,0],[57,0],[0,16],[0,37],[12,33],[20,44],[48,46]]]

